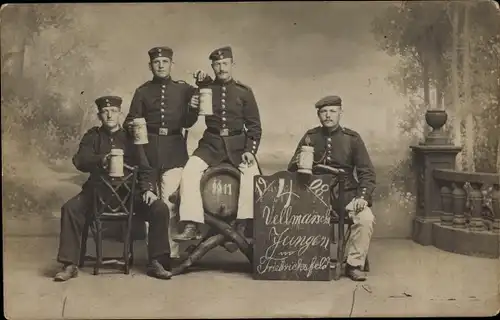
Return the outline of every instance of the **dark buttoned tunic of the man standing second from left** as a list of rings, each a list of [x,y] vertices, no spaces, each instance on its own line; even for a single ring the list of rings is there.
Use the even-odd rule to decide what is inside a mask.
[[[125,123],[146,119],[149,143],[144,149],[154,169],[166,171],[186,164],[188,152],[182,130],[198,119],[198,109],[189,107],[195,92],[195,87],[170,77],[155,77],[135,91]]]

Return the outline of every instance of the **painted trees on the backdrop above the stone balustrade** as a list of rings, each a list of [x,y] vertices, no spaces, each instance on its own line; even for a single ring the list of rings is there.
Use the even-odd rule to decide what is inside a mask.
[[[373,22],[380,48],[400,58],[389,80],[403,94],[420,99],[424,109],[448,109],[451,121],[446,129],[451,127],[455,143],[464,147],[459,168],[470,171],[485,158],[494,155],[493,161],[486,161],[490,168],[498,159],[498,142],[488,135],[481,145],[482,135],[476,133],[497,133],[497,117],[489,110],[498,110],[493,98],[498,91],[498,21],[498,10],[486,1],[407,1]],[[432,106],[431,92],[435,93]],[[420,107],[418,103],[410,106]],[[406,117],[417,114],[407,112]]]

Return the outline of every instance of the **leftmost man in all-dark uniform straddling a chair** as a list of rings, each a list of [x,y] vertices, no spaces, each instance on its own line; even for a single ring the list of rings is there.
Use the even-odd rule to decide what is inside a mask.
[[[139,167],[138,202],[136,213],[147,214],[150,221],[148,241],[149,266],[148,275],[160,279],[170,279],[170,246],[168,241],[169,210],[163,201],[154,193],[151,183],[151,167],[144,161],[142,148],[128,139],[126,131],[120,127],[122,99],[116,96],[105,96],[95,101],[99,110],[101,127],[90,129],[83,136],[78,152],[73,157],[75,167],[90,173],[82,191],[66,202],[61,208],[61,234],[57,261],[63,264],[63,270],[56,274],[55,281],[66,281],[78,275],[80,243],[86,215],[91,214],[93,186],[98,176],[106,174],[111,149],[124,151],[124,163]],[[135,195],[134,195],[135,196]]]

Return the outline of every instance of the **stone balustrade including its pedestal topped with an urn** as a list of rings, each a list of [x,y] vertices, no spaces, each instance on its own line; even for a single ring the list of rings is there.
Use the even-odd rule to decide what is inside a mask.
[[[500,174],[455,170],[460,147],[442,131],[444,110],[429,110],[433,131],[411,146],[417,181],[413,240],[459,254],[500,257]]]

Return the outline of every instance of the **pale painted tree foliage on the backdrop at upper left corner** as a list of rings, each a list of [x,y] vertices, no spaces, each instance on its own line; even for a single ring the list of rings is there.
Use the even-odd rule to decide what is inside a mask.
[[[71,5],[2,11],[2,133],[52,158],[74,151],[95,120],[93,99],[109,80],[93,63],[100,49],[81,16]]]

